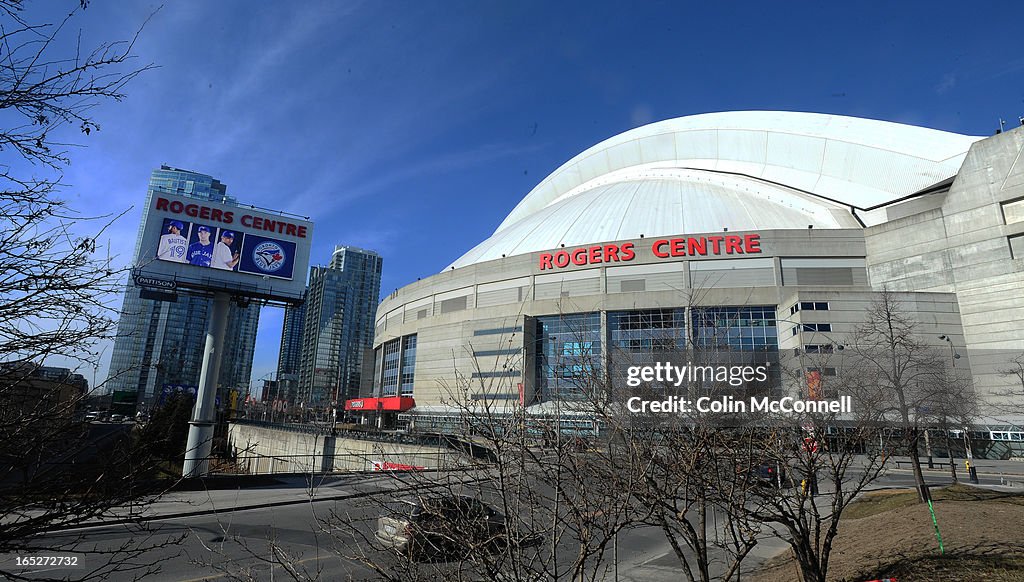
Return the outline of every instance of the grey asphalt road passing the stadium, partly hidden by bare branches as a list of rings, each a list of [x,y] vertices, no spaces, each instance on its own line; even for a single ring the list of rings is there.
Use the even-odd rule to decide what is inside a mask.
[[[1021,467],[1024,468],[1024,467]],[[962,471],[963,472],[963,471]],[[962,477],[966,475],[961,475]],[[999,485],[999,475],[982,473],[982,485]],[[948,470],[926,471],[933,486],[947,485]],[[294,566],[310,577],[323,580],[361,580],[373,577],[367,567],[343,555],[357,549],[351,535],[332,529],[332,514],[346,515],[367,535],[376,527],[383,509],[368,505],[365,494],[382,488],[397,487],[384,475],[348,475],[329,477],[310,487],[298,477],[281,480],[276,486],[238,491],[182,492],[161,502],[159,510],[148,513],[148,531],[125,525],[103,525],[69,532],[54,532],[41,541],[42,548],[72,544],[82,566],[95,568],[102,557],[95,550],[125,544],[160,545],[182,538],[180,543],[155,547],[137,562],[152,566],[145,575],[153,581],[200,581],[225,579],[291,579],[283,564]],[[476,485],[465,477],[466,493]],[[890,470],[874,488],[911,487],[909,469]],[[313,493],[310,500],[309,494]],[[218,511],[213,513],[212,511]],[[720,518],[720,516],[719,516]],[[713,517],[714,519],[714,517]],[[751,556],[755,566],[784,549],[777,539],[766,539]],[[65,552],[67,553],[67,552]],[[41,552],[52,554],[52,552]],[[375,558],[381,558],[379,554]],[[612,580],[611,549],[605,556]],[[678,560],[660,531],[654,528],[632,530],[620,535],[617,542],[618,580],[675,581],[681,578]],[[34,570],[31,577],[81,574],[61,570]],[[138,574],[145,571],[138,571]],[[282,578],[284,576],[284,578]],[[112,576],[111,580],[131,580],[133,573]]]

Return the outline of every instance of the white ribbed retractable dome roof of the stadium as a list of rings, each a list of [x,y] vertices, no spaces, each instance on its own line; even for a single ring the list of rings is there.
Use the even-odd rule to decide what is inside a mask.
[[[857,227],[858,212],[954,176],[978,139],[810,113],[660,121],[563,164],[450,267],[641,236]]]

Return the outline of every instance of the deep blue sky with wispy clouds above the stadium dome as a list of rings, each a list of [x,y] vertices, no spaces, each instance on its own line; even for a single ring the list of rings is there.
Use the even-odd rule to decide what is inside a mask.
[[[32,20],[77,1],[31,4]],[[83,46],[159,4],[92,0]],[[59,8],[59,9],[58,9]],[[384,256],[382,295],[486,238],[548,173],[616,133],[730,110],[809,111],[974,135],[1024,115],[1019,2],[168,2],[153,63],[72,152],[65,195],[131,259],[150,172],[211,174],[308,215],[312,260]],[[253,377],[274,369],[261,316]],[[99,375],[110,359],[103,357]]]

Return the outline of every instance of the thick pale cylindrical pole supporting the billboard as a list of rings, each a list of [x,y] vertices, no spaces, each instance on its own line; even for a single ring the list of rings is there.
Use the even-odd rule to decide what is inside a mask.
[[[227,330],[227,311],[230,295],[223,292],[213,295],[213,313],[206,328],[206,347],[203,349],[203,369],[199,378],[196,408],[188,423],[188,445],[185,447],[184,477],[206,476],[210,470],[210,451],[213,448],[213,425],[216,419],[217,378],[220,375],[220,356],[224,351]]]

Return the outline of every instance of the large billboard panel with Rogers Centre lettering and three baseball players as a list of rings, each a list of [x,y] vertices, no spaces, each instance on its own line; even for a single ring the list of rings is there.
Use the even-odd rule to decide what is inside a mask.
[[[136,285],[296,301],[305,291],[312,223],[251,206],[153,193]]]

